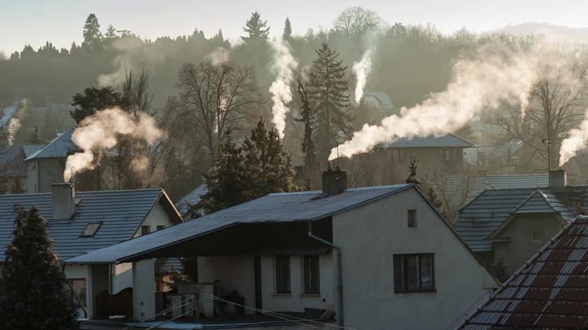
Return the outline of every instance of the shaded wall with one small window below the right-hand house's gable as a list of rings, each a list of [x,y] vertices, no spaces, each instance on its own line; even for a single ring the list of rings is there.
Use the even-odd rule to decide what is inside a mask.
[[[542,241],[531,242],[531,229],[539,229],[542,232]],[[508,241],[495,242],[492,245],[494,262],[503,259],[510,275],[521,268],[560,230],[561,222],[555,215],[514,216],[497,236],[497,238],[507,238]]]

